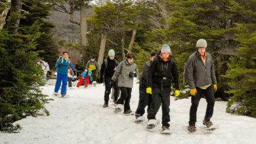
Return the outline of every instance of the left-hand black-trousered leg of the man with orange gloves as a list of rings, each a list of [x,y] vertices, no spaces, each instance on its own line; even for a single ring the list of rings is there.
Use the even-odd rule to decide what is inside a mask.
[[[196,125],[196,112],[198,111],[198,103],[201,99],[203,90],[196,88],[196,96],[191,96],[190,118],[188,124],[191,126]]]

